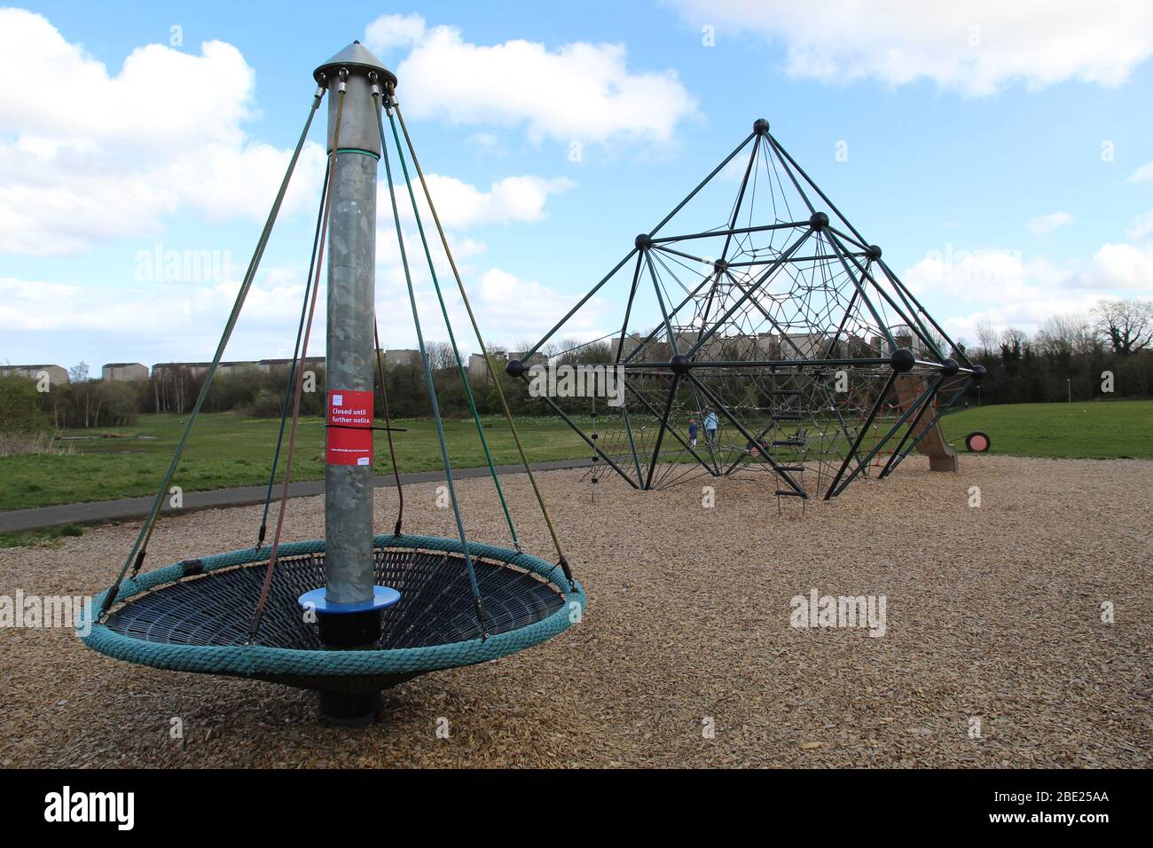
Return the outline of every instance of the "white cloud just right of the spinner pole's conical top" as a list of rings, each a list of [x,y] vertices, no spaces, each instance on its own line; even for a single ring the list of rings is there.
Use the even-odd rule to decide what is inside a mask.
[[[623,44],[477,45],[457,28],[428,28],[415,15],[377,18],[364,38],[382,51],[413,44],[397,67],[397,91],[414,118],[526,126],[534,142],[668,144],[677,126],[696,115],[676,72],[631,72]]]

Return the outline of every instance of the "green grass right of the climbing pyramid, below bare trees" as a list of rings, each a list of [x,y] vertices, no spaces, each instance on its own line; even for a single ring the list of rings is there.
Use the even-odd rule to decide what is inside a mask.
[[[965,436],[981,430],[994,453],[1153,459],[1153,400],[980,406],[947,415],[942,426],[962,453]]]

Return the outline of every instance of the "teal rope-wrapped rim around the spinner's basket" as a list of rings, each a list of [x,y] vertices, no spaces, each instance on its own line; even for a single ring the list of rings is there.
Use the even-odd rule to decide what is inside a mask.
[[[465,555],[465,546],[458,539],[442,536],[378,535],[372,540],[375,548],[414,548],[439,550]],[[301,556],[324,551],[323,539],[282,545],[282,556]],[[153,643],[123,636],[105,624],[91,622],[91,632],[81,640],[93,651],[113,659],[125,660],[151,668],[198,671],[203,674],[228,674],[253,677],[258,675],[414,675],[477,662],[496,660],[538,645],[568,629],[573,618],[583,615],[586,608],[585,588],[575,583],[567,588],[553,579],[557,566],[530,554],[521,554],[507,548],[498,548],[477,542],[468,543],[468,553],[485,560],[495,560],[522,568],[544,578],[564,598],[560,608],[547,618],[517,630],[510,630],[485,639],[470,639],[445,645],[394,648],[390,651],[304,651],[299,648],[276,648],[265,645],[172,645]],[[266,554],[256,548],[233,550],[226,554],[202,557],[203,573],[210,573],[232,565],[264,562]],[[148,592],[184,577],[181,563],[149,571],[120,584],[116,601]],[[202,579],[202,578],[196,578]],[[112,590],[98,595],[92,602],[92,618]],[[82,613],[76,620],[77,635],[84,632],[90,621]]]

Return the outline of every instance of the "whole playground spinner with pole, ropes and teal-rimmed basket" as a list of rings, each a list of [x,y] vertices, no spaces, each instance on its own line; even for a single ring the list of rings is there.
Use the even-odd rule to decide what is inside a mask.
[[[482,351],[484,340],[405,126],[395,98],[397,77],[360,43],[353,43],[318,67],[314,78],[317,89],[304,128],[152,509],[112,586],[97,598],[96,620],[80,621],[77,628],[83,633],[91,624],[91,632],[84,637],[89,647],[130,662],[317,690],[321,710],[330,722],[362,725],[374,719],[380,691],[386,686],[427,671],[497,659],[559,633],[579,621],[585,593],[573,578],[498,385],[502,406],[556,549],[556,561],[532,556],[521,548],[449,322],[414,179],[431,211]],[[255,279],[312,118],[325,96],[329,97],[327,167],[280,435],[273,450],[256,545],[211,556],[190,554],[173,565],[143,571],[160,506]],[[392,450],[394,428],[389,419],[375,315],[380,164],[391,202],[386,215],[394,223],[399,242],[455,519],[457,536],[452,539],[409,534],[404,530],[405,498]],[[409,164],[415,173],[409,171]],[[394,171],[398,165],[399,173]],[[415,216],[422,253],[508,527],[508,548],[477,543],[465,533],[416,308],[408,247],[400,226],[398,182],[407,189]],[[303,390],[302,365],[308,355],[326,247],[325,538],[287,541],[285,519]],[[488,358],[485,361],[495,377],[492,362]],[[377,390],[383,427],[375,423]],[[397,519],[390,534],[378,534],[372,526],[376,464],[372,436],[377,430],[386,433],[398,490]],[[271,545],[265,545],[273,488],[281,468],[282,486],[271,525]]]

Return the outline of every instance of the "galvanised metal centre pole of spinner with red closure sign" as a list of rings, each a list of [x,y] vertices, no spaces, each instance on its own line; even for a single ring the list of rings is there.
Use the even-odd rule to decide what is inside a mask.
[[[385,82],[395,84],[395,77],[359,42],[317,68],[314,76],[332,93],[327,151],[334,153],[325,360],[325,591],[323,611],[317,607],[317,622],[327,646],[351,650],[371,646],[380,635],[372,550],[371,451],[380,133],[372,88]],[[333,149],[334,104],[340,90],[345,92],[344,112],[339,147]],[[348,443],[352,433],[356,433],[355,442]],[[322,691],[321,710],[334,723],[367,725],[372,721],[379,698],[379,692]]]

